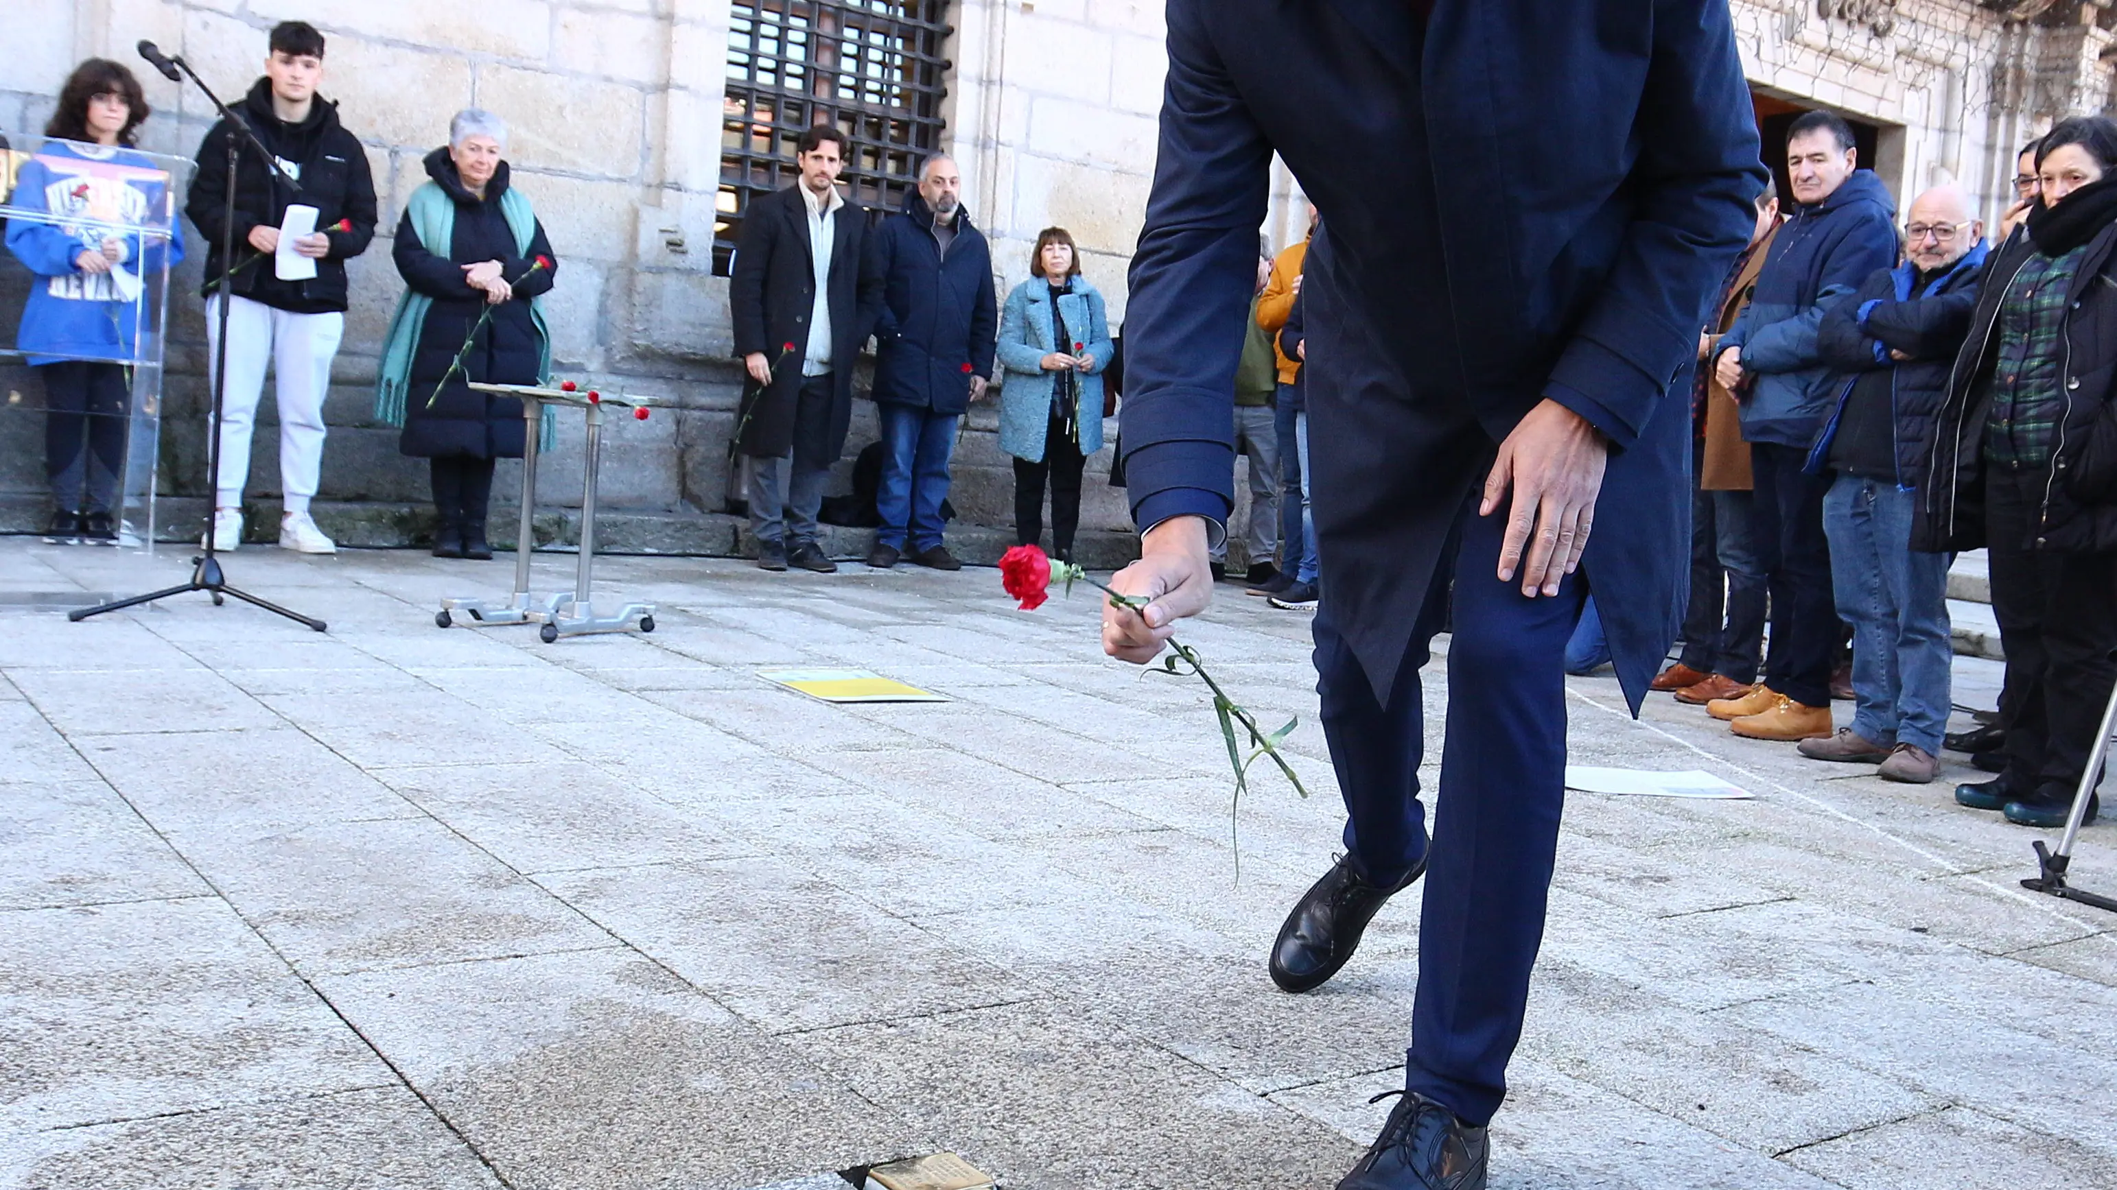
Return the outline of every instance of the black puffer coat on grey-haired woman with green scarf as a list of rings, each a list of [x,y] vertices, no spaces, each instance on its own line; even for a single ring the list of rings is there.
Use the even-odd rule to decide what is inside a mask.
[[[536,383],[542,341],[529,318],[529,299],[550,290],[557,258],[544,239],[544,222],[536,224],[529,254],[514,248],[514,231],[500,212],[500,195],[508,191],[508,165],[500,163],[485,184],[485,199],[464,188],[447,148],[426,155],[426,174],[455,199],[455,237],[447,256],[436,256],[419,244],[411,212],[398,222],[396,267],[404,284],[434,299],[419,326],[419,349],[411,358],[411,390],[404,398],[404,434],[398,449],[415,457],[468,455],[476,459],[521,457],[523,404],[512,396],[472,392],[470,383]],[[533,269],[538,258],[550,258],[550,269]],[[500,260],[500,275],[514,286],[514,301],[493,307],[493,318],[478,330],[464,366],[434,396],[434,385],[449,373],[464,337],[485,313],[485,292],[464,284],[464,265]]]

